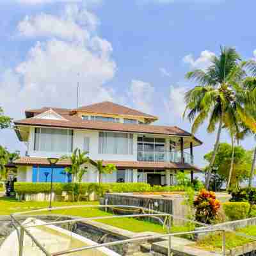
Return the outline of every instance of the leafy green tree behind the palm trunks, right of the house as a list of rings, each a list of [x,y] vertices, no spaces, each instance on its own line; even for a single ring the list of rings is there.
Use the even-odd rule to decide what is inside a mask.
[[[205,154],[204,159],[210,163],[213,151]],[[231,186],[237,184],[237,182],[243,182],[250,178],[250,168],[252,166],[253,150],[245,150],[241,146],[234,147],[234,170],[231,177]],[[214,167],[217,170],[218,175],[227,182],[228,174],[230,171],[230,164],[232,160],[232,147],[228,143],[220,143],[216,158],[214,161]]]

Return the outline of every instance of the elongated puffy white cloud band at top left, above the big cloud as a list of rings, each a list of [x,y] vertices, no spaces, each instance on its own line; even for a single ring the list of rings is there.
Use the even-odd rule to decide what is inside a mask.
[[[98,25],[99,19],[93,13],[68,4],[61,17],[46,13],[26,16],[19,22],[18,30],[19,35],[25,37],[56,37],[84,43],[90,40],[90,31],[95,31]]]

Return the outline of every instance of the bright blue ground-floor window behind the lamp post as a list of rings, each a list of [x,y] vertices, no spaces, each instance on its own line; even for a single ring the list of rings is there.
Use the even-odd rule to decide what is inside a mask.
[[[32,182],[51,182],[51,168],[33,166]],[[52,182],[71,182],[70,173],[65,172],[65,168],[54,168]]]

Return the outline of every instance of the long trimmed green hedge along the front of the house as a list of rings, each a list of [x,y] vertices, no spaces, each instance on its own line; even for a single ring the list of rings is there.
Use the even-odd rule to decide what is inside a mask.
[[[79,194],[92,193],[95,191],[98,195],[106,192],[128,193],[128,192],[168,192],[168,191],[184,191],[184,186],[150,186],[146,183],[53,183],[52,190],[57,195],[61,195],[63,191],[72,193],[74,189],[79,189]],[[18,195],[50,193],[51,184],[48,182],[15,182],[14,189]]]

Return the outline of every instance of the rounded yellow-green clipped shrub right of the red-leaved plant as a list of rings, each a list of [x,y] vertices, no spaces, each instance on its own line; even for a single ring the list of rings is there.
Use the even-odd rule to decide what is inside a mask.
[[[223,203],[225,215],[229,220],[243,220],[248,217],[250,204],[248,202],[226,202]]]

